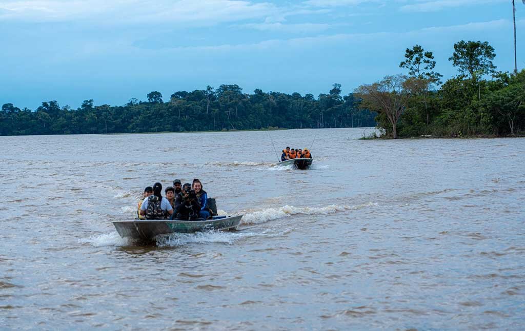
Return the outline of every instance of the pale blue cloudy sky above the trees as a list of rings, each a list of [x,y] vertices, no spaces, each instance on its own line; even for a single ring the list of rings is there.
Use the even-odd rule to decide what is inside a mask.
[[[159,91],[238,84],[245,93],[348,94],[399,68],[405,49],[488,41],[512,71],[511,0],[0,0],[0,105],[122,105]],[[525,5],[516,1],[518,68]]]

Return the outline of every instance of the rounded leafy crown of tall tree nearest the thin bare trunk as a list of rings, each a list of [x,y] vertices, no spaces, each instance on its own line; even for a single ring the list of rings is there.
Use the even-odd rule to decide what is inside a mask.
[[[496,57],[494,48],[488,41],[461,40],[454,44],[454,54],[448,58],[462,74],[470,74],[474,80],[485,74],[495,74],[496,66],[492,60]]]

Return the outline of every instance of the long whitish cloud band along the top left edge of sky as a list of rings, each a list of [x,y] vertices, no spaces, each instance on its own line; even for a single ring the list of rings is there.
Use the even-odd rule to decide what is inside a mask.
[[[279,12],[268,2],[246,0],[4,0],[0,20],[95,20],[106,23],[216,24],[264,18]]]

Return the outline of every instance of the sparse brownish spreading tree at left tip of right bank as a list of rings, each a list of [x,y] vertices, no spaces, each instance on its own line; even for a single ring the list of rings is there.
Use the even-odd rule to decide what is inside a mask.
[[[361,98],[362,108],[384,113],[392,125],[393,138],[397,138],[397,121],[401,118],[408,101],[415,93],[428,88],[428,80],[405,75],[386,76],[382,81],[364,84],[354,93]]]

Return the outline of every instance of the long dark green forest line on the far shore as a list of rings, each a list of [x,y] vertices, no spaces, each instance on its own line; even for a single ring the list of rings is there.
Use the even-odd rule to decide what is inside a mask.
[[[57,101],[42,102],[36,110],[6,103],[0,112],[0,135],[363,127],[375,126],[377,115],[362,109],[352,93],[341,95],[337,83],[317,98],[260,89],[247,94],[236,84],[177,91],[166,102],[158,91],[146,98],[132,98],[121,106],[85,100],[78,109],[60,107]]]

